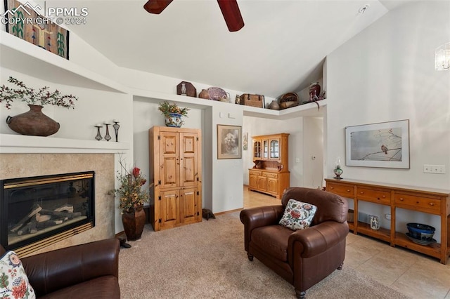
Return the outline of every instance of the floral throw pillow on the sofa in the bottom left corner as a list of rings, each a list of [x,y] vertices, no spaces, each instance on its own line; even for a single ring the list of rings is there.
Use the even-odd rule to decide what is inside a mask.
[[[0,298],[36,298],[22,262],[14,251],[7,251],[0,259]]]

